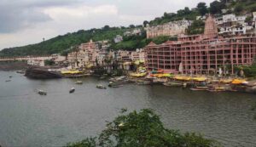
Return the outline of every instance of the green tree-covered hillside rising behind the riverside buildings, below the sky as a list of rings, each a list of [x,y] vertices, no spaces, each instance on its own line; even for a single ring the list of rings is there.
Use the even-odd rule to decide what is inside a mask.
[[[203,1],[203,0],[202,0]],[[221,15],[222,9],[227,9],[225,14],[247,14],[256,11],[255,0],[220,0],[213,1],[210,7],[206,3],[198,3],[196,8],[183,8],[177,13],[164,13],[163,16],[157,17],[154,20],[145,20],[143,25],[160,25],[173,20],[195,20],[196,16],[207,13]],[[74,45],[79,45],[82,42],[109,40],[111,48],[113,49],[135,49],[143,48],[148,42],[154,41],[156,43],[165,42],[168,37],[158,37],[154,39],[146,39],[143,31],[140,37],[125,37],[123,42],[114,43],[113,37],[116,35],[123,35],[125,31],[130,31],[134,28],[142,28],[143,25],[130,25],[129,27],[109,27],[108,25],[101,29],[90,29],[88,31],[77,31],[67,33],[63,36],[54,37],[44,42],[27,45],[17,48],[5,48],[0,51],[0,56],[18,56],[18,55],[37,55],[37,54],[57,54],[67,53],[68,48]],[[198,34],[203,32],[204,23],[202,21],[195,21],[188,29],[188,34]]]

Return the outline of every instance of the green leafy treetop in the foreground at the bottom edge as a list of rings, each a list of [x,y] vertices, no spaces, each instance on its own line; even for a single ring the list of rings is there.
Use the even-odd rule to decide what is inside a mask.
[[[205,139],[195,133],[180,133],[167,129],[160,122],[160,116],[152,110],[133,111],[108,122],[105,130],[97,138],[87,138],[67,147],[213,147],[216,141]]]

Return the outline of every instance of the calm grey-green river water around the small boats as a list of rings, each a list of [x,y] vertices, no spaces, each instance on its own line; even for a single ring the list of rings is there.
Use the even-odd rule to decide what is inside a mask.
[[[11,82],[5,80],[11,78]],[[256,121],[250,110],[256,97],[249,93],[195,92],[161,85],[108,84],[94,77],[31,80],[0,71],[0,144],[2,146],[61,146],[95,136],[121,108],[154,109],[166,127],[201,133],[224,146],[256,146]],[[76,88],[69,94],[70,88]],[[40,96],[36,89],[44,89]]]

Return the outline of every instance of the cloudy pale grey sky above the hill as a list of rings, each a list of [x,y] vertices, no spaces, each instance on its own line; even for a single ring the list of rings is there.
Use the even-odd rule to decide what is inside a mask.
[[[0,0],[0,50],[104,25],[142,25],[212,0]]]

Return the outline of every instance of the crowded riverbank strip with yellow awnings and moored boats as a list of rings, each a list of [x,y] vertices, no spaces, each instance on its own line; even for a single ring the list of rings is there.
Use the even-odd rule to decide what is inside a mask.
[[[94,71],[63,71],[61,69],[49,69],[42,67],[29,68],[26,70],[26,76],[46,79],[46,78],[80,78],[85,76],[99,76],[100,79],[109,77],[108,84],[111,88],[119,88],[125,83],[136,83],[138,85],[163,84],[166,87],[189,88],[193,91],[210,92],[243,92],[256,93],[256,81],[247,81],[245,78],[237,76],[207,76],[207,75],[181,75],[169,73],[148,73],[145,70],[141,73],[125,72],[125,76],[114,76],[111,74],[98,75]],[[55,76],[56,75],[56,76]]]

